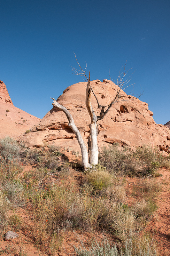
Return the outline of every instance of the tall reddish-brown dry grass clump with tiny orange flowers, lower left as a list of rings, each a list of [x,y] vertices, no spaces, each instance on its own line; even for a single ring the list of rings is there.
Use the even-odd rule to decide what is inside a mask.
[[[36,244],[47,243],[58,226],[65,226],[66,220],[73,218],[70,209],[74,197],[71,190],[62,187],[35,191],[32,195],[32,219]]]

